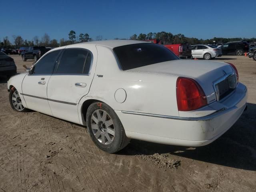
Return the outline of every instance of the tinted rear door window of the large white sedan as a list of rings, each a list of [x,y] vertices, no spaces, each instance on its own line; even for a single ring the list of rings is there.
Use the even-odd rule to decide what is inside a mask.
[[[85,49],[66,49],[57,68],[57,74],[89,74],[92,55]]]

